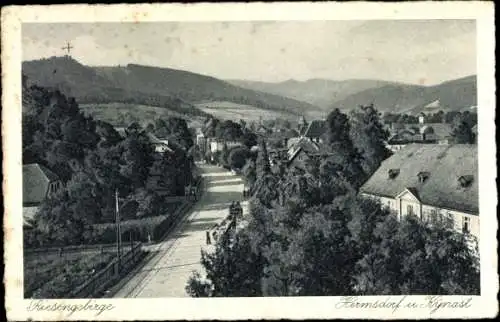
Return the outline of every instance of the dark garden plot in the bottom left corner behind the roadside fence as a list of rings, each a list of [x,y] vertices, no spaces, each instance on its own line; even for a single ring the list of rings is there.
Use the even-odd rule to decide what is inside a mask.
[[[99,251],[25,256],[24,297],[64,297],[104,268],[114,256]]]

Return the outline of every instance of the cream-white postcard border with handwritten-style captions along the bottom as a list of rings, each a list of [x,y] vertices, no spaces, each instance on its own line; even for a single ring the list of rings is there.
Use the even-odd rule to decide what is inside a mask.
[[[100,299],[115,308],[94,312],[28,312],[22,294],[21,24],[23,22],[243,21],[243,20],[476,19],[481,213],[481,296],[468,309],[336,308],[339,297]],[[2,8],[2,140],[6,310],[9,320],[185,320],[306,318],[481,318],[498,313],[495,159],[494,5],[488,2],[406,3],[226,3],[144,5],[54,5]],[[363,297],[360,300],[383,299]],[[403,297],[392,297],[402,299]],[[443,300],[464,297],[448,296]],[[425,301],[424,296],[404,301]],[[84,300],[52,300],[83,304]]]

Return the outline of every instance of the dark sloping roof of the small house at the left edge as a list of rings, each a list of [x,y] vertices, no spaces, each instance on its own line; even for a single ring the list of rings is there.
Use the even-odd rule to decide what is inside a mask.
[[[45,199],[50,182],[59,177],[38,163],[23,165],[23,204],[38,204]]]

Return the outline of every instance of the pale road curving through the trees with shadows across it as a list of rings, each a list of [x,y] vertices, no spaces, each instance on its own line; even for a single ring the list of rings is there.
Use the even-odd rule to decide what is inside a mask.
[[[151,258],[114,295],[116,298],[187,297],[186,283],[194,270],[202,272],[201,249],[206,247],[206,231],[228,215],[231,201],[243,199],[243,181],[230,171],[199,165],[205,192],[172,233],[150,246]],[[245,209],[246,204],[242,202]]]

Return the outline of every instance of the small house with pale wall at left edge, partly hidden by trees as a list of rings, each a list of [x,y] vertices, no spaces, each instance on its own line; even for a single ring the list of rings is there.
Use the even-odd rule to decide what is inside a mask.
[[[45,166],[32,163],[23,165],[23,221],[31,226],[31,221],[42,202],[53,197],[63,187],[59,177]]]

